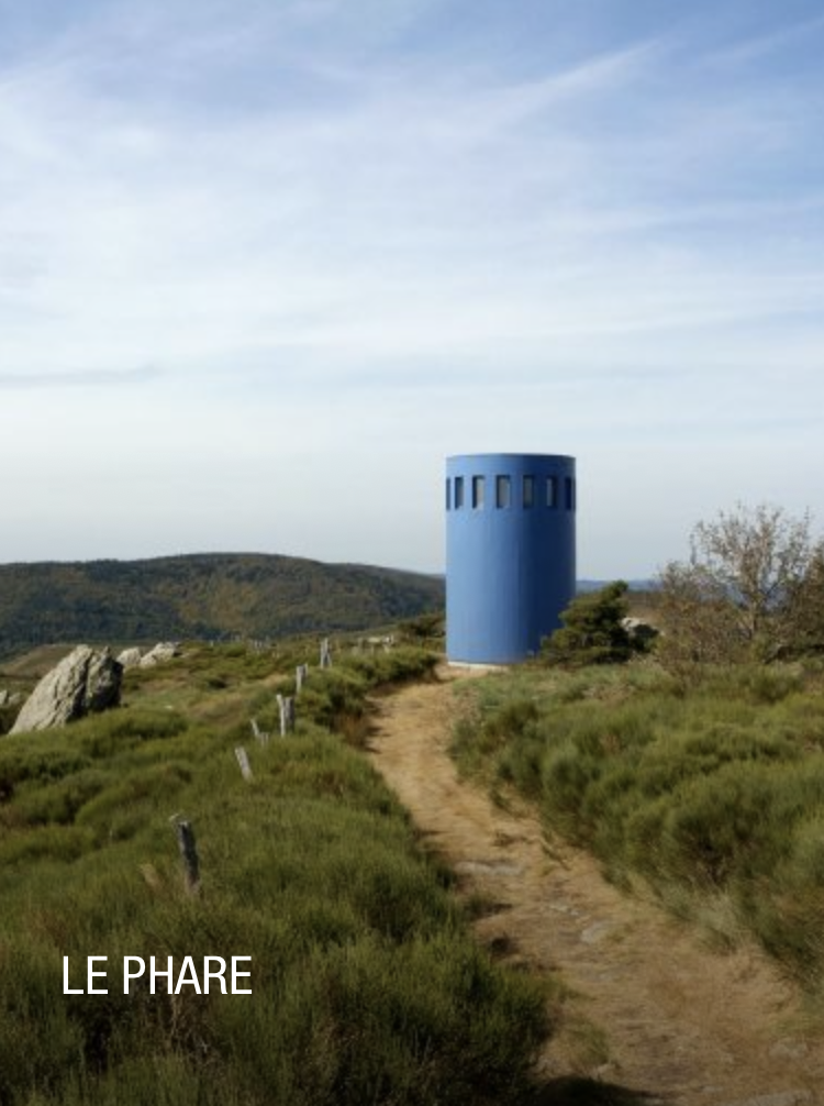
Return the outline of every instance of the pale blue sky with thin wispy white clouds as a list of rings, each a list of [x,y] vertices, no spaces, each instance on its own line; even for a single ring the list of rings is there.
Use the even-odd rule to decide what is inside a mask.
[[[0,0],[0,562],[824,529],[821,0]]]

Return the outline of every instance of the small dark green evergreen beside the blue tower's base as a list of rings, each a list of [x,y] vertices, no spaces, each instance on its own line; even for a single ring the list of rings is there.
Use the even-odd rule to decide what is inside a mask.
[[[623,619],[627,616],[623,580],[599,592],[579,595],[561,613],[563,626],[543,645],[547,660],[564,665],[608,665],[628,660],[638,646],[633,643]]]

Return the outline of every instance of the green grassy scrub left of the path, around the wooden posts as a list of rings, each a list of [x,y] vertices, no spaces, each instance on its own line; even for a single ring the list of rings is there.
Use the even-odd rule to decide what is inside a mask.
[[[420,649],[314,668],[237,647],[130,674],[125,706],[0,741],[0,1102],[435,1106],[522,1100],[546,995],[469,937],[447,874],[341,740]],[[335,730],[339,732],[335,732]],[[244,782],[234,749],[253,772]],[[189,894],[170,818],[193,825]],[[63,994],[88,956],[108,994]],[[250,956],[251,995],[124,993],[125,956]],[[247,964],[245,967],[249,967]],[[249,985],[249,981],[244,981]],[[98,984],[106,985],[106,984]]]

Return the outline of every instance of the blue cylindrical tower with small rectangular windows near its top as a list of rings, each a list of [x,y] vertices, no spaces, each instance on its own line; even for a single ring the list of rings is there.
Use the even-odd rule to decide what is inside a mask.
[[[545,453],[446,460],[446,655],[536,654],[575,594],[575,461]]]

